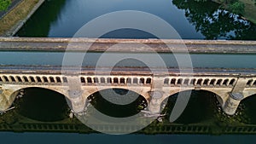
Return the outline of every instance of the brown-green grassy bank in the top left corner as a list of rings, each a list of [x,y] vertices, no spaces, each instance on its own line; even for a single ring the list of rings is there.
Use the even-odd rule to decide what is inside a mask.
[[[6,32],[9,32],[20,20],[24,20],[26,15],[31,12],[37,3],[38,0],[23,0],[15,9],[12,9],[9,14],[6,14],[3,19],[0,20],[0,36],[4,36]]]

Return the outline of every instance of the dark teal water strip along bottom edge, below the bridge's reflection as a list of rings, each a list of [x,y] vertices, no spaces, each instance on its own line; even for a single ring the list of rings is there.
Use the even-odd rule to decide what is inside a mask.
[[[254,135],[78,135],[57,133],[0,133],[1,141],[6,143],[37,143],[37,144],[254,144]]]

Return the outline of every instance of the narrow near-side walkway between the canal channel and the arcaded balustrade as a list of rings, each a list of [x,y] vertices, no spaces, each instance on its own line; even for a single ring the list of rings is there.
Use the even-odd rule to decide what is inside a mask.
[[[79,72],[79,68],[81,68],[82,74],[103,74],[111,72],[111,74],[127,74],[127,75],[151,75],[153,72],[157,72],[160,74],[168,74],[168,75],[178,75],[180,74],[180,70],[178,68],[174,67],[168,67],[168,68],[151,68],[151,70],[148,69],[148,67],[132,67],[132,66],[126,66],[126,67],[95,67],[95,66],[83,66],[83,67],[77,67],[77,66],[69,66],[69,67],[61,67],[61,66],[0,66],[0,73],[23,73],[23,74],[36,74],[36,73],[48,73],[48,74],[61,74],[61,72],[69,72],[69,73],[77,73]],[[166,72],[168,71],[168,72]],[[183,69],[183,74],[193,74],[193,75],[233,75],[233,76],[256,76],[256,68],[247,68],[247,69],[241,69],[241,68],[194,68],[192,71],[191,69]]]

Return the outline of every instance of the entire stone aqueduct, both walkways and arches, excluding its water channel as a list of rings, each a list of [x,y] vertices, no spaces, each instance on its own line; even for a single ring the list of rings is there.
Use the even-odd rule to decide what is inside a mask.
[[[119,45],[108,49],[116,43]],[[0,37],[0,52],[84,52],[84,45],[90,45],[90,52],[256,54],[255,41]],[[236,112],[240,101],[256,94],[255,69],[195,68],[181,73],[176,68],[168,68],[167,72],[156,68],[153,73],[143,67],[102,67],[96,71],[85,66],[78,73],[72,67],[71,71],[61,72],[60,66],[3,65],[6,64],[0,66],[0,111],[12,105],[20,89],[31,87],[65,95],[74,112],[83,112],[88,96],[102,89],[129,89],[142,95],[151,114],[159,114],[160,105],[168,96],[186,90],[215,93],[223,111],[230,115]]]

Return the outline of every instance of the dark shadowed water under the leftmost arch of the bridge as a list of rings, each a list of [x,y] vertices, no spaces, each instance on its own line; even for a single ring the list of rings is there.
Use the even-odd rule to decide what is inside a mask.
[[[42,122],[67,118],[69,108],[64,95],[42,88],[28,88],[24,92],[23,97],[16,99],[14,104],[20,115]]]

